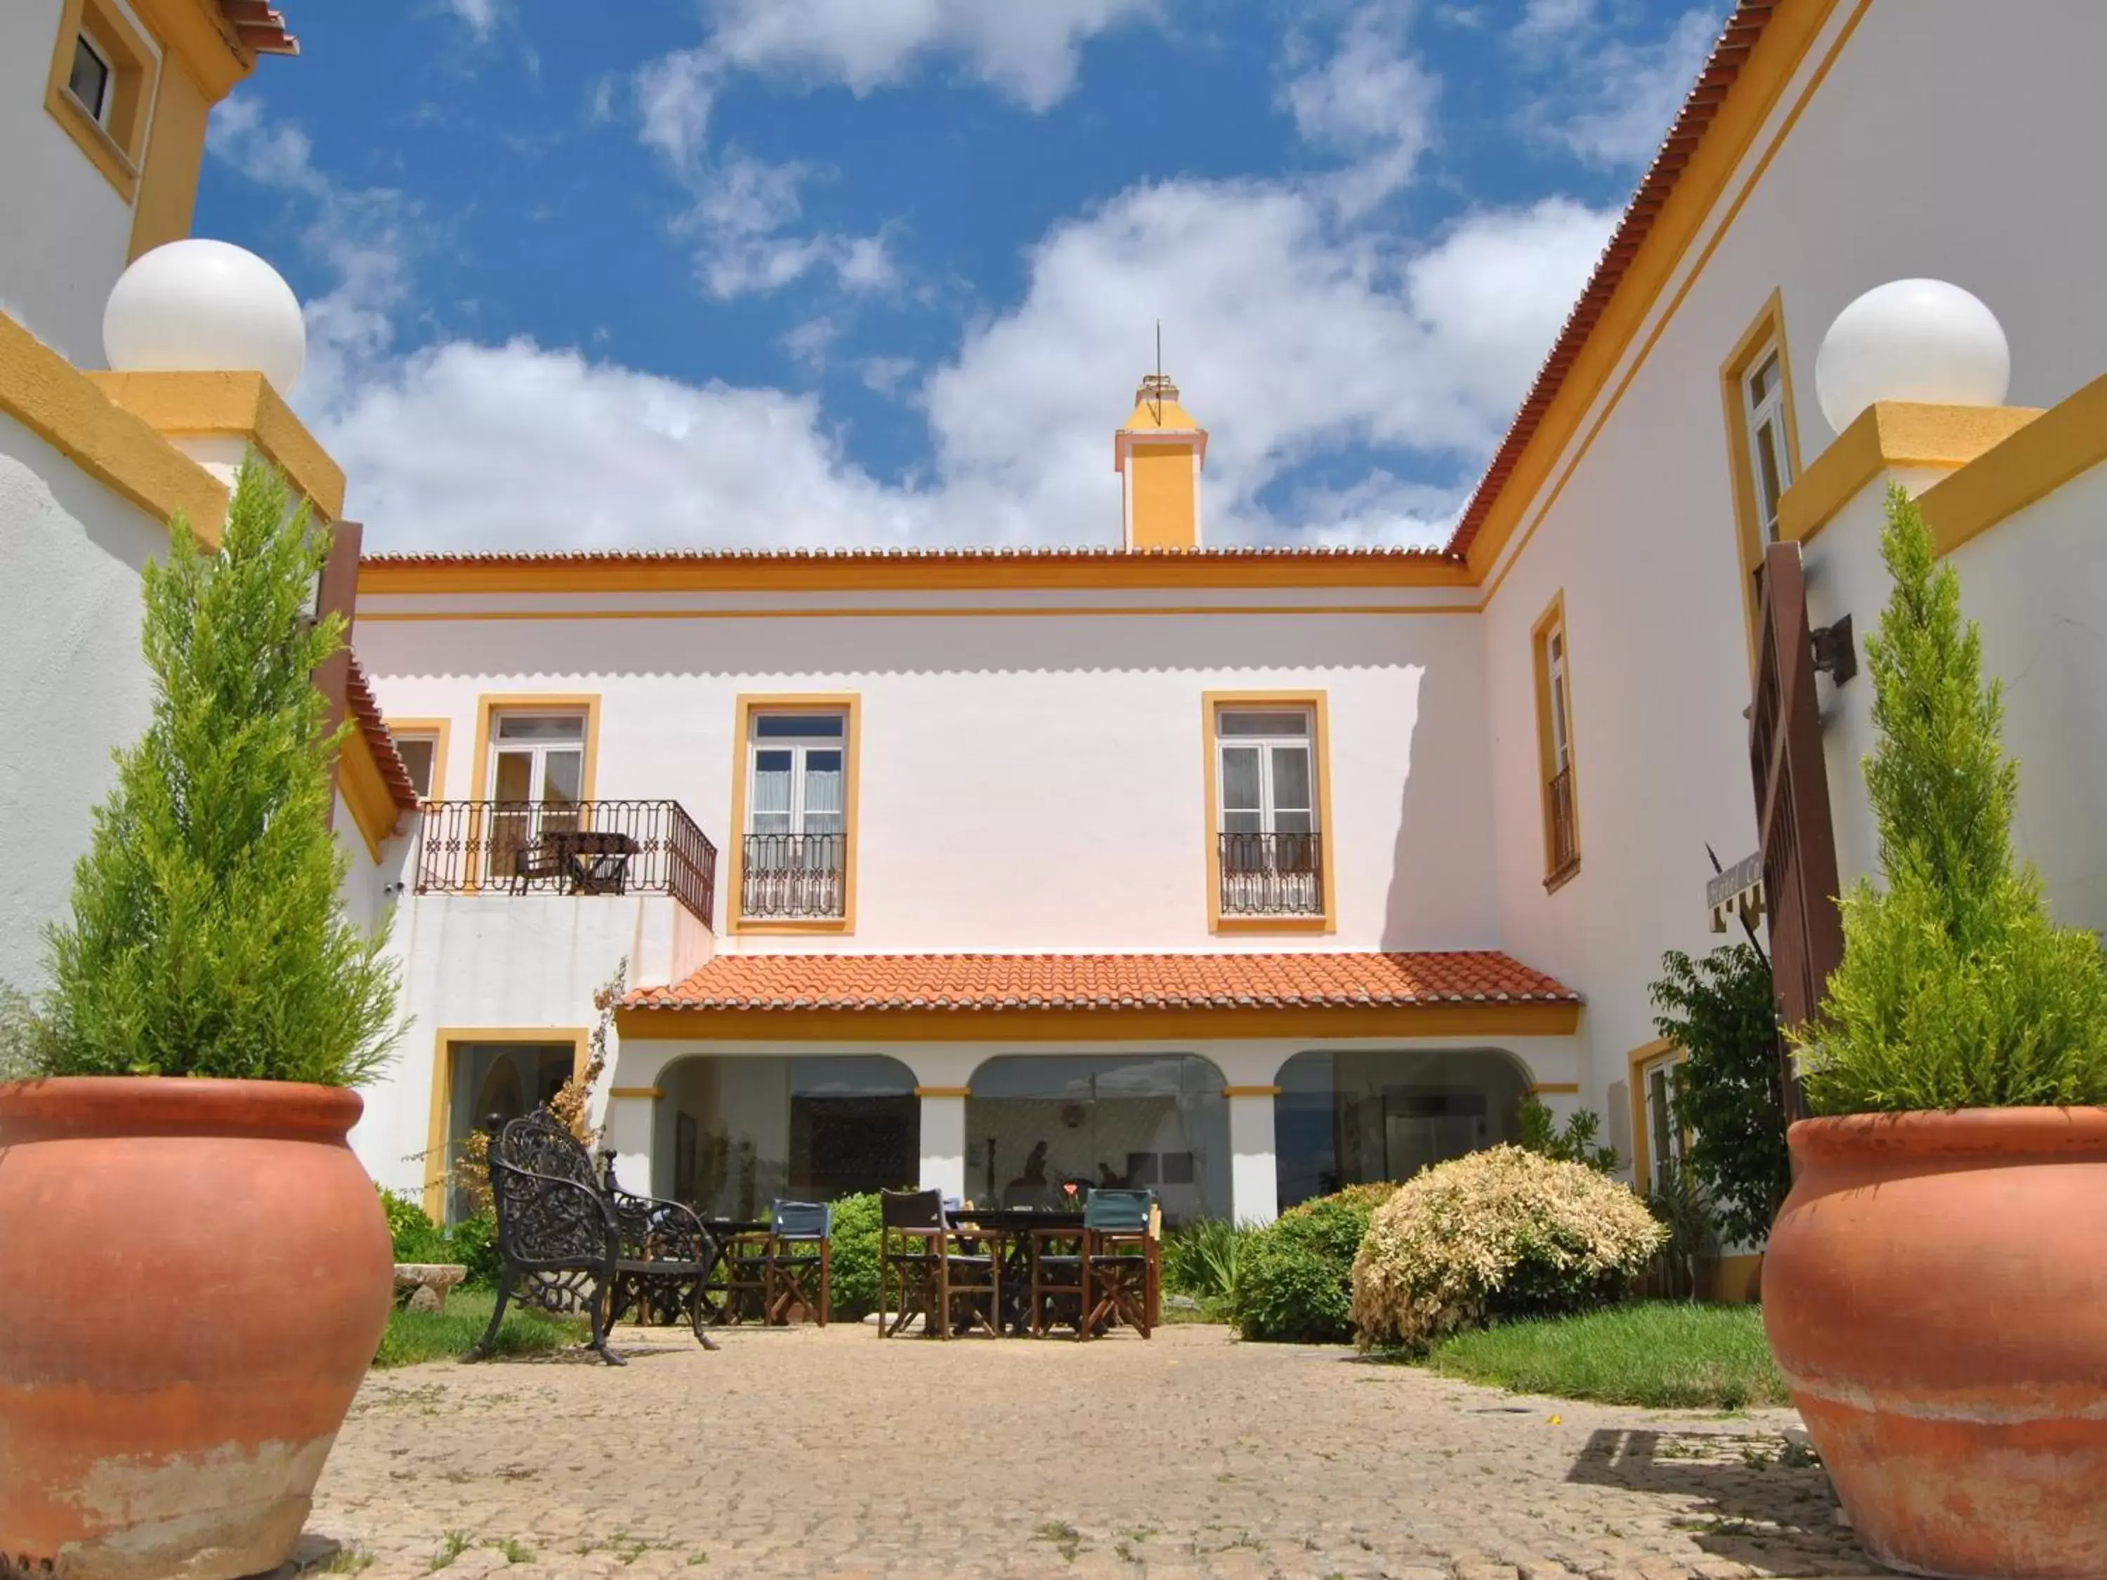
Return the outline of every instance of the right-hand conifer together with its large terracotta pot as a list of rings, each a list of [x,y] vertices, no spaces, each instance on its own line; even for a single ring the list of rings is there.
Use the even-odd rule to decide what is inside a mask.
[[[2012,860],[2000,689],[1960,581],[1888,493],[1894,596],[1867,643],[1884,887],[1795,1030],[1799,1176],[1764,1321],[1882,1561],[2107,1574],[2107,967]]]

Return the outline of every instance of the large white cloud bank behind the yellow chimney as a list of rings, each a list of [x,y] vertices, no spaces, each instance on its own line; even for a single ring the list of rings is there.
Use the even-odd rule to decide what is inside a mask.
[[[1473,215],[1416,259],[1340,238],[1325,215],[1315,192],[1186,181],[1060,225],[1022,303],[919,386],[933,468],[906,482],[851,461],[813,396],[531,341],[379,358],[318,432],[375,548],[1106,544],[1108,436],[1167,308],[1167,367],[1214,434],[1212,541],[1439,541],[1454,491],[1380,468],[1300,491],[1279,516],[1260,493],[1359,447],[1473,466],[1610,215]],[[862,373],[889,392],[912,364]]]

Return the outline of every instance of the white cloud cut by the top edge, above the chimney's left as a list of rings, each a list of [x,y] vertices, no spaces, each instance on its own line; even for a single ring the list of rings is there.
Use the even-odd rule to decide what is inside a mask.
[[[710,44],[750,72],[870,93],[950,57],[1030,110],[1075,84],[1083,44],[1157,0],[714,0]]]

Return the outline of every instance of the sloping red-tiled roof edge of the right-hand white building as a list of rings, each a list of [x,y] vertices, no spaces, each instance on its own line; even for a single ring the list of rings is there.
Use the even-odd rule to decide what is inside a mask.
[[[1456,520],[1456,533],[1448,541],[1450,554],[1469,552],[1479,527],[1485,525],[1485,516],[1492,514],[1492,506],[1500,497],[1500,489],[1507,487],[1507,478],[1515,472],[1515,466],[1521,463],[1521,453],[1530,449],[1530,440],[1544,421],[1544,413],[1549,413],[1551,402],[1557,400],[1559,388],[1566,383],[1566,373],[1572,369],[1574,358],[1580,356],[1580,348],[1587,343],[1587,337],[1595,333],[1595,322],[1610,305],[1610,297],[1616,295],[1616,287],[1622,282],[1631,261],[1639,255],[1639,246],[1646,242],[1648,232],[1652,232],[1654,219],[1660,215],[1669,194],[1675,190],[1675,181],[1681,177],[1683,166],[1690,164],[1690,156],[1702,141],[1705,131],[1719,114],[1719,105],[1726,103],[1728,91],[1734,86],[1734,78],[1740,76],[1742,63],[1755,48],[1755,40],[1764,36],[1764,27],[1770,23],[1770,15],[1778,4],[1780,0],[1740,0],[1740,4],[1734,6],[1734,15],[1726,19],[1726,27],[1719,29],[1719,42],[1713,44],[1713,51],[1705,61],[1705,70],[1698,72],[1696,86],[1690,88],[1690,97],[1683,99],[1683,107],[1677,112],[1675,124],[1669,126],[1669,135],[1660,141],[1654,162],[1639,179],[1639,190],[1631,194],[1631,202],[1624,204],[1624,217],[1616,223],[1610,244],[1603,246],[1601,259],[1595,263],[1595,274],[1589,278],[1587,289],[1580,293],[1580,301],[1574,303],[1572,314],[1566,318],[1566,327],[1551,345],[1551,354],[1544,358],[1544,364],[1536,375],[1536,383],[1530,386],[1530,394],[1521,402],[1521,411],[1515,413],[1515,421],[1507,430],[1507,438],[1500,440],[1500,449],[1494,451],[1492,466],[1485,468],[1485,476],[1479,478],[1477,491],[1462,508],[1462,516]]]

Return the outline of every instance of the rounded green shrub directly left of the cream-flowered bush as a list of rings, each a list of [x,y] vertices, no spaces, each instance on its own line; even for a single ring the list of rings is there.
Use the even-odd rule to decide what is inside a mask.
[[[1348,1186],[1252,1230],[1237,1256],[1230,1317],[1247,1340],[1344,1344],[1353,1338],[1353,1258],[1370,1213],[1395,1184]]]

